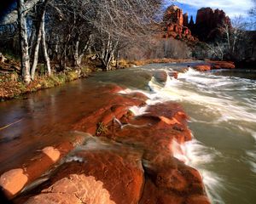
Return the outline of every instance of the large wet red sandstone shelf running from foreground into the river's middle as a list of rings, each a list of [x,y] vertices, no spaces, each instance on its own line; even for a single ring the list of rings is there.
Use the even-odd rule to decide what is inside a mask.
[[[40,204],[210,203],[200,173],[183,161],[181,145],[191,133],[180,105],[146,107],[147,96],[121,90],[99,90],[102,107],[73,124],[74,137],[3,173],[0,184],[9,198]],[[132,106],[147,110],[136,116]]]

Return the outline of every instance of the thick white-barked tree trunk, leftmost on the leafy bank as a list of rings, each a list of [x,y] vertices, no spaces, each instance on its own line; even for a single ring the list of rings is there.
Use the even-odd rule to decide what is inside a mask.
[[[22,77],[24,82],[31,82],[30,64],[28,54],[28,42],[26,33],[26,15],[24,0],[18,0],[18,22],[19,22],[19,36],[20,36],[20,61],[22,69]]]

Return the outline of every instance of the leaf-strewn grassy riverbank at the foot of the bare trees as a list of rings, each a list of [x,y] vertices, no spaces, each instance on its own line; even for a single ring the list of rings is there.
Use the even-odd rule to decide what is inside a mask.
[[[113,70],[125,69],[132,66],[148,65],[154,63],[187,62],[191,59],[147,59],[147,60],[119,60],[118,67],[113,63]],[[38,76],[30,84],[22,82],[20,74],[20,64],[16,59],[8,58],[6,62],[0,62],[0,101],[23,98],[24,95],[36,92],[44,88],[54,88],[67,82],[72,82],[79,78],[85,78],[91,72],[99,70],[100,63],[97,60],[86,59],[86,63],[81,69],[70,69],[68,71],[55,72],[49,76]],[[98,68],[96,68],[98,66]],[[12,71],[12,72],[10,72]]]

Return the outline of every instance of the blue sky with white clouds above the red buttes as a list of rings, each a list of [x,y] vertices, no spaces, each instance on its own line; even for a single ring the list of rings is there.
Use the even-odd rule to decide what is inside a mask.
[[[173,1],[166,0],[166,3],[172,4]],[[222,9],[231,19],[239,15],[246,17],[247,11],[253,7],[252,0],[177,0],[174,4],[182,8],[183,13],[193,15],[194,20],[197,10],[203,7]]]

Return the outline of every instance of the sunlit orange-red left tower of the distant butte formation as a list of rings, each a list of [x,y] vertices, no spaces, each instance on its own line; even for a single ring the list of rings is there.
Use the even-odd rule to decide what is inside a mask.
[[[195,41],[188,28],[189,16],[183,14],[183,10],[177,6],[170,6],[166,9],[163,18],[164,37],[174,37],[180,40]]]

